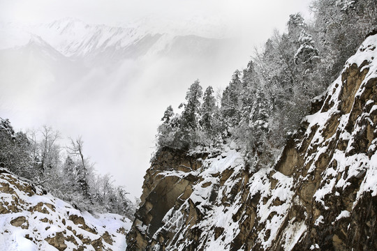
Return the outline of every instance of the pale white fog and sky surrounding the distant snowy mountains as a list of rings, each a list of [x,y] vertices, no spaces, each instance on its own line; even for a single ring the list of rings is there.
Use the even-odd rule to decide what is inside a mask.
[[[185,50],[182,43],[166,53],[112,63],[101,57],[73,60],[34,44],[0,50],[0,117],[17,130],[50,125],[64,137],[81,135],[98,173],[109,172],[137,197],[165,108],[184,102],[195,79],[203,88],[224,89],[254,47],[274,28],[284,29],[289,14],[309,16],[309,1],[76,2],[1,0],[0,21],[29,25],[75,17],[119,26],[147,17],[142,24],[160,33],[222,38],[203,45],[205,52]]]

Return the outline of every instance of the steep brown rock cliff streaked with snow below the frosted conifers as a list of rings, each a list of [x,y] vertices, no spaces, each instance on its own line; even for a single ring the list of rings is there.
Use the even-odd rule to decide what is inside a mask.
[[[164,149],[127,250],[377,250],[377,35],[312,105],[279,161]]]

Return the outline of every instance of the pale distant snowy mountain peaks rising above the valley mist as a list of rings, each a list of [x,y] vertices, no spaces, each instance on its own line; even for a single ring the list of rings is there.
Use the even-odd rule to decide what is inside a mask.
[[[178,22],[167,17],[150,15],[121,26],[108,26],[87,24],[82,20],[66,17],[47,24],[8,26],[3,37],[10,39],[6,40],[7,43],[2,42],[5,44],[3,46],[0,43],[0,49],[36,44],[52,47],[59,54],[68,57],[92,57],[98,54],[108,58],[153,56],[169,50],[178,37],[223,38],[226,29],[219,29],[220,24],[221,22],[216,20],[204,22],[199,17]],[[202,45],[206,46],[205,43]],[[186,46],[192,47],[192,44]]]

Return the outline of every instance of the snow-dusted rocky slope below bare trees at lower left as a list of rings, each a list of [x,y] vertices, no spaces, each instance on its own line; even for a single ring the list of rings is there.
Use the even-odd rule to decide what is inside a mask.
[[[0,250],[125,250],[131,221],[94,217],[0,169]]]

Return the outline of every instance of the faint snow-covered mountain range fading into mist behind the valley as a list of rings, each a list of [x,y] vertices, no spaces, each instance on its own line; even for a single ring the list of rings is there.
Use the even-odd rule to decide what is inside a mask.
[[[156,25],[158,23],[158,25]],[[165,25],[161,25],[165,24]],[[186,23],[185,23],[186,24]],[[3,42],[0,49],[27,45],[36,37],[68,57],[88,57],[107,55],[110,58],[138,58],[139,56],[168,54],[175,47],[182,47],[182,38],[187,42],[191,53],[203,53],[218,44],[220,34],[206,33],[214,29],[215,24],[200,31],[198,25],[177,26],[163,20],[142,20],[126,26],[107,26],[104,24],[86,24],[81,20],[65,18],[33,26],[6,24],[0,26]],[[191,26],[191,29],[188,28]],[[162,29],[164,27],[165,29]],[[200,34],[201,36],[198,36]],[[192,45],[195,45],[193,47]],[[198,47],[202,47],[200,50]],[[177,50],[175,50],[177,51]]]

